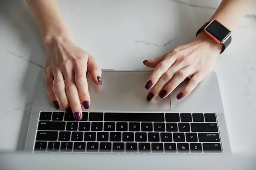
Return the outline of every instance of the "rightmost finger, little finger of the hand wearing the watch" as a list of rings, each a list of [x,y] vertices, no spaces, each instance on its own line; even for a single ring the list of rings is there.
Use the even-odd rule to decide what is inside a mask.
[[[201,82],[201,76],[199,73],[196,73],[192,76],[192,78],[189,80],[188,84],[185,88],[183,88],[178,94],[177,99],[182,99],[189,95],[191,91],[195,89],[195,87],[198,85],[199,82]]]

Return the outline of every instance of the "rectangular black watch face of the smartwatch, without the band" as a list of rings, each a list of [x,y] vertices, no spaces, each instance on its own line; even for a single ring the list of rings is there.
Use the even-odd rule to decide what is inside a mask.
[[[206,31],[221,42],[223,42],[231,34],[230,30],[216,20],[212,21],[212,23],[206,28]]]

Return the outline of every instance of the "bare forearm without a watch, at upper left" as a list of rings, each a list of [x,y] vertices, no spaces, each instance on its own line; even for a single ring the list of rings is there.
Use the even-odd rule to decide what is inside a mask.
[[[56,0],[26,0],[35,16],[44,43],[52,37],[72,38],[58,9]]]

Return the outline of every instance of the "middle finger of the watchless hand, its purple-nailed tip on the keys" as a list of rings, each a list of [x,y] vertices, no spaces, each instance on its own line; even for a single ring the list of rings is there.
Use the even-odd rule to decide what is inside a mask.
[[[75,119],[77,121],[80,121],[82,117],[82,108],[79,100],[78,90],[76,87],[74,70],[72,68],[67,68],[66,71],[63,72],[63,74],[65,79],[66,94],[70,102],[71,110]]]

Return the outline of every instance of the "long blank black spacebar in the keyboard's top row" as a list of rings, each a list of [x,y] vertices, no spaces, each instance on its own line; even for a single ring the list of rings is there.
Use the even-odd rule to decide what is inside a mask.
[[[105,113],[104,121],[164,122],[164,114],[163,113]]]

